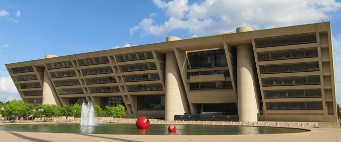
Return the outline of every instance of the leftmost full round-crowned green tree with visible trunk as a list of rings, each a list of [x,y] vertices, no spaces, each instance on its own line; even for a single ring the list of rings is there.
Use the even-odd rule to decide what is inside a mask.
[[[25,111],[25,103],[20,100],[13,100],[10,101],[7,106],[8,115],[15,115],[16,116],[16,122],[18,123],[18,115],[22,114],[23,111]]]

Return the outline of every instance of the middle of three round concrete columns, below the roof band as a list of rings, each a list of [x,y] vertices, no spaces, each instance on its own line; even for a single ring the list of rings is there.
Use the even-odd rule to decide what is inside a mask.
[[[166,53],[165,120],[174,120],[174,115],[188,113],[188,100],[183,86],[175,52]]]

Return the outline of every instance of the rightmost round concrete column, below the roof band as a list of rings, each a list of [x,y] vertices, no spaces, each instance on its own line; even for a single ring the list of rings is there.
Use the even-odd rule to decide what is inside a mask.
[[[258,92],[256,65],[251,44],[237,45],[239,121],[257,121]]]

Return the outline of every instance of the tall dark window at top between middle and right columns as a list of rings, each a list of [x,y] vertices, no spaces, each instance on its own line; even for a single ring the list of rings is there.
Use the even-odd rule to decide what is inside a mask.
[[[208,68],[227,66],[224,49],[187,53],[187,68]]]

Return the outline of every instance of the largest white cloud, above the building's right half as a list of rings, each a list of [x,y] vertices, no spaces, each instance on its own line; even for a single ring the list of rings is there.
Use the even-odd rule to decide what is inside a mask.
[[[203,35],[235,31],[249,26],[254,30],[321,22],[328,14],[341,9],[334,0],[206,0],[189,4],[187,0],[168,3],[153,0],[156,7],[165,11],[167,21],[155,22],[145,18],[130,28],[130,34],[164,36],[168,32],[183,29]],[[156,24],[161,23],[161,24]]]

